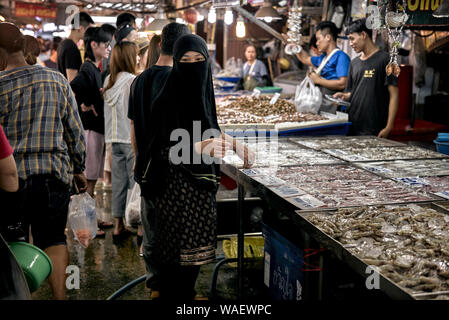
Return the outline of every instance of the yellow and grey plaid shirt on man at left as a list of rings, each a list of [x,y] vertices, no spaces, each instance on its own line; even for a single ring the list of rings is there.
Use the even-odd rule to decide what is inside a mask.
[[[0,124],[20,178],[52,174],[70,186],[72,174],[84,171],[78,106],[59,72],[41,66],[0,72]]]

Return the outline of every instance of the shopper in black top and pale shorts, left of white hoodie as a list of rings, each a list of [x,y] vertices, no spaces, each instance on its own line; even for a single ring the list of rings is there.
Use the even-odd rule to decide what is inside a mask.
[[[86,30],[86,54],[79,73],[70,83],[79,106],[85,129],[87,192],[93,197],[98,178],[103,178],[104,166],[104,112],[101,71],[98,68],[109,55],[110,36],[99,27]]]

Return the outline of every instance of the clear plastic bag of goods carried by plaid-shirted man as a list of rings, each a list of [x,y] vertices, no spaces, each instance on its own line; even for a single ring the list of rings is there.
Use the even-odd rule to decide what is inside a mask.
[[[95,199],[87,192],[72,196],[69,204],[69,223],[75,239],[84,248],[97,235],[97,215]]]

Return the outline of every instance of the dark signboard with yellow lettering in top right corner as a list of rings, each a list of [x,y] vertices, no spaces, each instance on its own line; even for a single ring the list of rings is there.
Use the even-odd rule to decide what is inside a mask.
[[[406,26],[449,26],[449,18],[436,18],[432,13],[447,0],[407,0],[409,19]]]

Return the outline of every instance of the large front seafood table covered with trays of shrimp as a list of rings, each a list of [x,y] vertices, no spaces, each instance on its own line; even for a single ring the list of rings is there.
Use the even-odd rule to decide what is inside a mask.
[[[239,208],[251,191],[293,223],[295,236],[310,237],[362,277],[373,268],[390,298],[449,299],[447,157],[376,137],[245,142],[256,154],[254,167],[242,169],[231,154],[222,165],[238,183]],[[394,150],[407,160],[395,160]],[[239,241],[243,253],[242,232]]]

